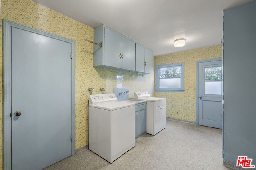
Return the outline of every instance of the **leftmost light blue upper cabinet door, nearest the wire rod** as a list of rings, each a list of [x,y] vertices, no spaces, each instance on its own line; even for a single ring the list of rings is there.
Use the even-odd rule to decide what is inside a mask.
[[[121,35],[105,27],[104,65],[121,68]]]

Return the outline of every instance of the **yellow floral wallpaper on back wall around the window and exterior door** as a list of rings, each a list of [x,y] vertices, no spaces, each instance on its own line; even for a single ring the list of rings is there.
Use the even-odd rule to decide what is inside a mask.
[[[196,61],[221,57],[221,45],[154,57],[155,68],[184,63],[184,92],[154,91],[154,97],[166,98],[166,117],[196,122]]]

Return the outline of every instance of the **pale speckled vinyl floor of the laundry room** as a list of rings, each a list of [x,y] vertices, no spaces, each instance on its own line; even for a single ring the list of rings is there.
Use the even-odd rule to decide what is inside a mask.
[[[222,164],[221,129],[166,120],[166,129],[140,135],[112,164],[84,147],[44,170],[228,170]]]

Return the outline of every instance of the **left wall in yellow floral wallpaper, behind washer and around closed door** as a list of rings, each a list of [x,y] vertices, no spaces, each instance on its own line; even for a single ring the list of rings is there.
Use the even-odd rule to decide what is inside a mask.
[[[2,19],[14,21],[42,31],[76,41],[76,149],[88,145],[88,100],[90,94],[113,93],[114,88],[134,91],[154,90],[154,75],[144,75],[93,67],[93,28],[30,0],[1,0],[0,47],[2,49]],[[3,60],[0,51],[0,130],[3,131]],[[89,93],[88,88],[94,91]],[[3,134],[0,134],[0,169],[3,168]]]

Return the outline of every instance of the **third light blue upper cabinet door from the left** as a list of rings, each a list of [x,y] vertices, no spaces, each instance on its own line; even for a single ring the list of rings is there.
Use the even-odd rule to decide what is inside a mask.
[[[135,62],[135,71],[145,72],[145,47],[136,43],[136,62]]]

